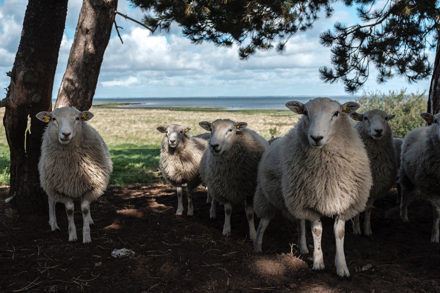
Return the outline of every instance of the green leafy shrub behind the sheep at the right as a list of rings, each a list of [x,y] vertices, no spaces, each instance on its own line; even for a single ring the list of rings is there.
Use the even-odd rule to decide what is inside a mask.
[[[425,126],[425,120],[420,113],[426,112],[426,91],[423,93],[407,94],[406,89],[400,92],[389,91],[389,94],[381,92],[363,92],[362,97],[356,102],[361,105],[357,112],[363,113],[370,109],[380,109],[388,114],[395,114],[389,124],[395,137],[404,137],[414,128]]]

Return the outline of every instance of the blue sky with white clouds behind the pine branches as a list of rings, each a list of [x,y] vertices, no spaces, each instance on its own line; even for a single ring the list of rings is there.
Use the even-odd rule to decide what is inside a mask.
[[[26,0],[0,0],[1,88],[10,83],[6,72],[14,65],[26,5]],[[54,99],[66,71],[81,5],[82,0],[69,0],[52,92]],[[259,51],[248,61],[239,60],[237,47],[216,47],[206,42],[192,44],[177,25],[172,26],[170,33],[153,35],[141,25],[116,15],[117,25],[123,28],[120,33],[124,43],[113,27],[95,98],[347,95],[341,83],[328,84],[319,79],[319,67],[331,67],[330,48],[319,44],[319,34],[332,29],[337,21],[357,23],[354,9],[342,5],[334,8],[332,18],[321,14],[313,29],[291,37],[284,54]],[[143,16],[142,11],[131,7],[126,0],[118,1],[117,11],[139,21]],[[433,62],[435,52],[428,52]],[[405,79],[394,77],[379,85],[372,67],[363,87],[366,92],[429,90],[430,80],[410,85]]]

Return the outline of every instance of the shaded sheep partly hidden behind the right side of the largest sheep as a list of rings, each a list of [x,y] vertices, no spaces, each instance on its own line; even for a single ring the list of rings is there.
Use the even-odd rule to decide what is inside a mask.
[[[364,235],[371,235],[371,208],[376,199],[385,196],[394,186],[397,179],[396,148],[394,147],[392,130],[388,121],[396,115],[388,114],[379,109],[372,109],[360,114],[350,115],[353,120],[359,121],[355,125],[367,149],[370,159],[370,169],[373,176],[373,187],[370,189],[365,218],[363,221]],[[353,234],[360,235],[359,215],[354,218]]]

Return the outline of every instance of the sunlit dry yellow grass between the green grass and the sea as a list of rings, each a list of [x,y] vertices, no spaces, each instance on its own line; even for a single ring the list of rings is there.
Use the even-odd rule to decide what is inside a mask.
[[[198,125],[200,121],[212,122],[215,119],[232,119],[246,122],[248,127],[269,139],[269,130],[276,127],[276,136],[284,135],[297,122],[299,115],[293,112],[252,113],[227,111],[175,111],[158,109],[91,109],[95,117],[89,124],[103,136],[108,145],[134,144],[159,145],[163,134],[156,130],[158,126],[172,123],[191,127],[191,134],[206,132]]]

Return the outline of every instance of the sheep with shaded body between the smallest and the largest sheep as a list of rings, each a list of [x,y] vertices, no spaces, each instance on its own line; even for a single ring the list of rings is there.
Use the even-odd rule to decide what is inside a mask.
[[[200,162],[202,181],[213,198],[210,217],[216,217],[216,202],[223,203],[223,235],[229,235],[232,204],[244,201],[249,238],[255,239],[257,232],[253,223],[252,201],[257,186],[258,163],[269,145],[268,141],[246,128],[246,122],[217,119],[213,123],[202,121],[199,125],[211,132],[209,147]]]

